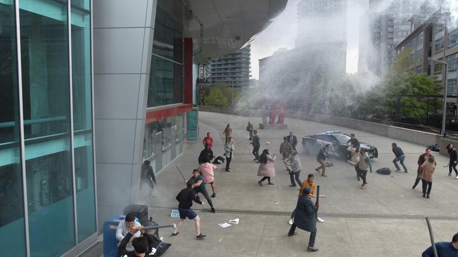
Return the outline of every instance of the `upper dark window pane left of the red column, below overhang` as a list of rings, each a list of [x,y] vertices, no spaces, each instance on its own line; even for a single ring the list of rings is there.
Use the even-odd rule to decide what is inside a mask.
[[[183,62],[183,27],[172,16],[157,6],[156,20],[154,23],[153,53]]]

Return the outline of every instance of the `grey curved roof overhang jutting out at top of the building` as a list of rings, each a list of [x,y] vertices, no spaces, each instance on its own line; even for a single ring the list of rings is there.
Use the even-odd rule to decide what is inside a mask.
[[[180,10],[172,3],[179,0],[160,5],[181,14],[184,37],[193,40],[194,62],[207,63],[248,44],[285,10],[287,1],[181,0]]]

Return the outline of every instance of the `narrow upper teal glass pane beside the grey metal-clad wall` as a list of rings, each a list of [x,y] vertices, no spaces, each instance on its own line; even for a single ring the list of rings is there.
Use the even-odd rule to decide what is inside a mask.
[[[83,22],[76,22],[75,18]],[[89,20],[89,13],[72,8],[73,129],[75,132],[92,129]]]

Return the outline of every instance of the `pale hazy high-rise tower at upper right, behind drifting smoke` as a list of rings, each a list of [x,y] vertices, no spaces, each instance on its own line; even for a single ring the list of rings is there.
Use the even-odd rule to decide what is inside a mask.
[[[376,75],[385,73],[396,56],[395,47],[410,33],[409,19],[421,0],[370,0],[369,10],[361,19],[361,71]],[[358,69],[360,71],[360,69]]]

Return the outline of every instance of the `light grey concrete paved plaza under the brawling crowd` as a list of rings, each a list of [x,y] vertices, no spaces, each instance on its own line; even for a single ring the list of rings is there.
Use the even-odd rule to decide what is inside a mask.
[[[249,145],[246,126],[248,121],[257,129],[260,117],[241,117],[220,113],[199,112],[200,140],[185,145],[183,154],[157,176],[154,197],[148,198],[147,188],[141,192],[141,203],[149,206],[149,214],[159,224],[176,223],[178,218],[171,218],[172,209],[177,209],[177,193],[186,187],[177,165],[185,177],[192,176],[192,169],[198,166],[197,157],[203,149],[201,140],[207,132],[214,138],[213,153],[223,154],[223,129],[230,124],[234,137],[234,157],[230,172],[218,165],[215,173],[216,198],[212,199],[216,214],[210,213],[207,202],[205,207],[194,203],[193,209],[201,217],[201,232],[207,235],[205,240],[195,240],[194,222],[186,220],[177,237],[170,237],[172,229],[161,229],[160,236],[172,246],[165,257],[198,255],[202,257],[278,257],[278,256],[321,256],[321,257],[385,257],[421,256],[429,247],[429,233],[424,220],[432,218],[432,227],[436,241],[450,241],[458,232],[458,204],[456,194],[458,180],[445,176],[448,157],[433,152],[438,163],[433,176],[431,198],[421,195],[421,184],[415,189],[412,185],[417,176],[417,160],[426,146],[420,146],[367,132],[338,126],[285,119],[288,129],[260,130],[260,152],[268,148],[277,154],[275,162],[276,177],[274,185],[257,182],[259,164],[255,164],[252,147]],[[376,146],[379,157],[373,159],[374,172],[367,175],[367,188],[360,189],[362,182],[356,180],[353,166],[339,160],[333,160],[335,166],[326,169],[327,177],[320,176],[314,169],[318,166],[315,156],[309,156],[302,149],[302,137],[319,132],[339,130],[355,133],[356,138]],[[279,147],[283,136],[293,131],[298,138],[297,150],[303,170],[301,180],[308,173],[315,174],[315,182],[320,185],[318,216],[325,220],[317,223],[315,246],[320,250],[306,252],[309,233],[297,230],[294,237],[287,237],[290,225],[287,221],[297,201],[298,188],[290,187],[289,175],[282,163]],[[270,142],[270,145],[266,145]],[[405,153],[408,173],[395,172],[392,160],[391,143],[396,142]],[[278,158],[280,157],[280,158]],[[389,167],[391,175],[375,172],[381,167]],[[210,185],[207,190],[211,192]],[[211,194],[211,193],[210,193]],[[201,200],[205,199],[201,197]],[[218,223],[239,218],[239,224],[227,228]]]

